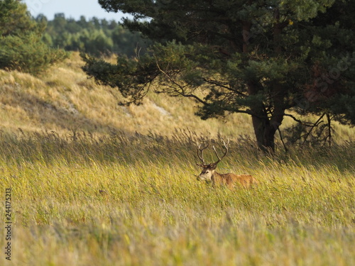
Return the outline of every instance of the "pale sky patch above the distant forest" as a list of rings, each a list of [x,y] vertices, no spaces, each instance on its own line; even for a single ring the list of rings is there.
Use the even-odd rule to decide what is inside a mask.
[[[80,16],[86,18],[106,18],[111,21],[120,21],[123,14],[108,13],[97,3],[97,0],[23,0],[27,4],[32,16],[43,13],[48,20],[54,18],[55,13],[65,13],[65,18],[75,18]]]

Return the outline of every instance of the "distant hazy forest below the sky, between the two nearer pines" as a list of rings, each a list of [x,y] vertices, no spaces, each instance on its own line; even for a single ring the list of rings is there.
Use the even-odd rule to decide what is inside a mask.
[[[65,18],[64,13],[57,13],[52,21],[40,15],[35,18],[39,23],[45,23],[43,34],[45,43],[55,48],[67,51],[80,51],[89,55],[126,55],[133,57],[138,50],[146,49],[148,40],[141,33],[132,33],[116,21],[99,18],[85,18],[78,21]]]

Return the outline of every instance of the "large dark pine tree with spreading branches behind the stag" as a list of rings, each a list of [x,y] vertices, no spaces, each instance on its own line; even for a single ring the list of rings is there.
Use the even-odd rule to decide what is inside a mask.
[[[130,13],[133,20],[124,20],[124,26],[155,42],[145,55],[119,57],[114,65],[84,56],[84,71],[118,87],[127,103],[141,103],[154,88],[194,99],[204,119],[248,113],[263,150],[275,149],[283,118],[295,118],[288,111],[355,123],[354,1],[99,4]]]

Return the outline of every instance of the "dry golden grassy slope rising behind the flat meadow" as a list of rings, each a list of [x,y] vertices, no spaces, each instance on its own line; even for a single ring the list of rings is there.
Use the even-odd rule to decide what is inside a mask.
[[[40,77],[0,70],[0,129],[16,132],[84,131],[107,134],[159,133],[171,135],[177,129],[198,134],[253,139],[251,118],[229,114],[224,119],[202,121],[195,116],[196,104],[190,99],[149,94],[142,106],[119,106],[117,89],[99,86],[82,72],[84,64],[77,53],[52,67]],[[283,128],[293,121],[286,120]],[[355,130],[336,124],[336,139],[354,140]]]

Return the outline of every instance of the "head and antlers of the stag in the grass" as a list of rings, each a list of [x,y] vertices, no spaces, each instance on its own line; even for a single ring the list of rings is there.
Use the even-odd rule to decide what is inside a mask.
[[[221,162],[221,160],[224,158],[224,156],[226,156],[226,154],[228,153],[229,140],[228,140],[227,143],[225,143],[224,140],[222,140],[222,142],[223,142],[224,149],[226,150],[224,152],[224,155],[222,157],[219,157],[216,148],[214,148],[214,146],[213,146],[214,153],[216,154],[218,160],[216,162],[210,163],[209,165],[206,165],[206,162],[204,162],[204,158],[203,158],[203,150],[208,148],[209,143],[207,143],[207,145],[204,146],[203,148],[201,148],[201,145],[198,145],[197,157],[200,158],[202,163],[201,164],[197,164],[197,165],[202,167],[203,169],[202,169],[202,172],[198,175],[197,180],[199,180],[199,181],[204,180],[204,181],[207,181],[207,182],[211,182],[212,181],[212,176],[214,174],[214,171],[216,170],[217,164],[219,162]]]

